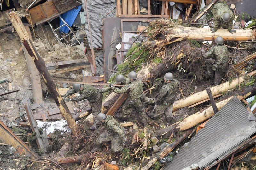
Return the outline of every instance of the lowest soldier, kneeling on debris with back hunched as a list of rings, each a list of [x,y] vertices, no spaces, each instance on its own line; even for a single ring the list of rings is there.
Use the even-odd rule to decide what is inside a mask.
[[[112,116],[104,113],[99,113],[97,119],[104,123],[107,132],[97,138],[96,147],[91,152],[102,151],[102,144],[105,142],[111,142],[113,152],[121,151],[127,142],[122,126]]]

